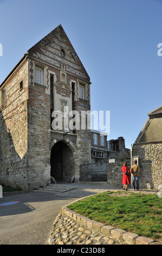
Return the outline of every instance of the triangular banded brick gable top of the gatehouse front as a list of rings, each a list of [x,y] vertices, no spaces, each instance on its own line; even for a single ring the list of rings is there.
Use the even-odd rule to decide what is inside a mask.
[[[60,69],[61,63],[66,64],[67,72],[90,82],[87,71],[61,25],[37,42],[27,53],[29,57],[55,68]]]

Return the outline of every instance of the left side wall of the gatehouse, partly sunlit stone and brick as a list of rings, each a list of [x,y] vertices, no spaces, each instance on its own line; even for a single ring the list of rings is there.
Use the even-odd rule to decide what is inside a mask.
[[[23,81],[23,88],[20,82]],[[28,187],[28,60],[17,66],[1,87],[6,91],[6,106],[0,111],[0,184]]]

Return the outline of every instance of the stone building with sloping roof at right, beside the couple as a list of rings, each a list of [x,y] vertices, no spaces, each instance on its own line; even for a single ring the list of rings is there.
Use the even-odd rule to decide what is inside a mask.
[[[135,143],[133,156],[139,157],[140,187],[160,188],[162,185],[162,106],[148,113]]]

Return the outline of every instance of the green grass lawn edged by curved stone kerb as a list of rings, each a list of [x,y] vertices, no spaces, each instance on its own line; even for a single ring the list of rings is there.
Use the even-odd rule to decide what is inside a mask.
[[[91,220],[162,241],[162,199],[154,194],[104,192],[69,205]]]

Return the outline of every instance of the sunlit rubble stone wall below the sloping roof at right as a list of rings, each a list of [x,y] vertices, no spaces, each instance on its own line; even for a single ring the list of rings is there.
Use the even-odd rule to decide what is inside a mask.
[[[155,188],[162,184],[162,143],[137,143],[133,155],[139,156],[140,188]]]

